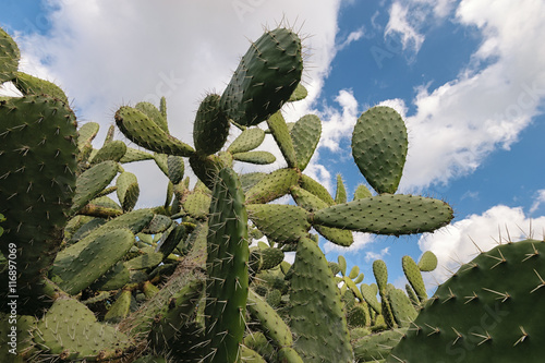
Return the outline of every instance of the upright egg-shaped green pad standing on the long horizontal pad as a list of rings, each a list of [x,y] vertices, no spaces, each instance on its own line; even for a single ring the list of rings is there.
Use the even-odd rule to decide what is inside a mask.
[[[407,148],[405,124],[395,109],[376,106],[358,119],[352,133],[352,156],[379,194],[397,191]]]

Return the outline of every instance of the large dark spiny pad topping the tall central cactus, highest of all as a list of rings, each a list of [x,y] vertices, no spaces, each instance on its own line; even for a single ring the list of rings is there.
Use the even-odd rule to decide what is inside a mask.
[[[221,95],[222,108],[237,123],[256,125],[290,99],[302,71],[296,34],[286,28],[266,32],[242,57]]]

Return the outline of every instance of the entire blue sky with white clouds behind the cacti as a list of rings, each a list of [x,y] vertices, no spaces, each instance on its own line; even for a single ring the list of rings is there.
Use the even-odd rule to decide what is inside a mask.
[[[117,108],[166,96],[172,134],[191,143],[191,125],[207,92],[220,93],[263,25],[284,21],[305,36],[310,97],[288,120],[316,113],[323,140],[306,173],[335,192],[364,182],[350,135],[368,107],[385,104],[405,119],[409,157],[400,193],[450,203],[452,226],[428,235],[356,234],[340,253],[373,281],[371,263],[386,261],[402,286],[401,256],[424,250],[443,281],[495,240],[545,229],[545,3],[542,0],[0,0],[0,25],[16,37],[21,68],[60,84],[82,122],[102,125]],[[119,135],[122,137],[122,135]],[[231,140],[234,135],[231,137]],[[279,155],[272,142],[264,149]],[[277,165],[281,167],[282,165]],[[162,203],[165,183],[150,164],[130,169],[142,186],[140,206]],[[272,168],[263,168],[268,171]],[[244,167],[243,171],[251,171]]]

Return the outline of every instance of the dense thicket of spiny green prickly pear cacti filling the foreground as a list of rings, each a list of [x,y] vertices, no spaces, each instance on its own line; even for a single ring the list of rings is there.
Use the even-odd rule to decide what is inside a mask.
[[[432,232],[452,209],[396,194],[408,137],[389,107],[365,111],[352,134],[375,193],[362,184],[349,201],[339,176],[331,196],[304,173],[322,122],[282,117],[306,96],[292,31],[265,32],[223,93],[203,99],[193,146],[170,134],[162,98],[120,107],[96,148],[98,124],[78,125],[63,90],[19,72],[19,58],[0,29],[0,83],[22,94],[0,97],[0,361],[535,361],[545,340],[541,241],[483,253],[429,299],[429,252],[400,262],[405,291],[388,283],[383,261],[372,283],[342,256],[326,261],[320,238],[350,246],[353,231]],[[131,143],[113,140],[116,126]],[[239,162],[275,162],[256,149],[265,137],[287,166],[237,173]],[[123,168],[142,160],[169,180],[153,208],[135,208],[145,191]],[[291,203],[270,203],[286,195]]]

